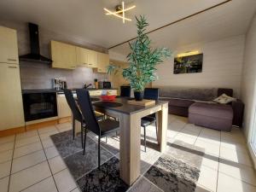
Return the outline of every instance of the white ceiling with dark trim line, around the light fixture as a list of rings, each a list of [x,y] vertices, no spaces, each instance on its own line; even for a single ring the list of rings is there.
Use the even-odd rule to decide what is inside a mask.
[[[0,18],[37,23],[61,34],[84,38],[91,44],[109,48],[136,37],[135,15],[145,15],[148,31],[164,26],[222,3],[224,0],[134,0],[136,9],[127,13],[131,22],[105,15],[103,8],[114,9],[118,0],[1,0]],[[256,0],[233,0],[175,25],[153,32],[155,46],[174,47],[198,41],[214,40],[244,34],[256,8]],[[114,48],[126,54],[127,44]]]

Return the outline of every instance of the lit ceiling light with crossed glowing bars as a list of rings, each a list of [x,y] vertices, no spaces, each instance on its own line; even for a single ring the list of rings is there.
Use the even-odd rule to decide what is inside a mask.
[[[134,9],[134,8],[136,8],[135,5],[133,5],[131,7],[128,7],[128,8],[125,8],[125,2],[122,2],[121,5],[117,5],[115,7],[115,11],[114,12],[110,11],[110,10],[108,10],[106,8],[104,8],[104,10],[106,11],[106,15],[116,16],[116,17],[122,19],[123,23],[125,23],[125,20],[131,21],[131,19],[125,17],[125,12],[128,11],[128,10]]]

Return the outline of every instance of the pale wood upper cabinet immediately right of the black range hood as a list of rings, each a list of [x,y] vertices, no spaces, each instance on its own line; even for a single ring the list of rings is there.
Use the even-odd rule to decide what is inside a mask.
[[[75,69],[77,63],[76,47],[57,41],[50,42],[52,67]]]

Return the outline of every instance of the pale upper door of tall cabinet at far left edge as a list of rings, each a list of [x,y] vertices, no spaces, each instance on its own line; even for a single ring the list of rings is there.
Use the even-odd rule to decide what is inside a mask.
[[[17,32],[0,26],[0,63],[19,64]]]

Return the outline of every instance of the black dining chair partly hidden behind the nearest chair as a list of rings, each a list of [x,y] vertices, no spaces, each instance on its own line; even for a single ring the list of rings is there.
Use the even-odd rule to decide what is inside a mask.
[[[81,124],[81,143],[83,147],[83,140],[84,140],[83,133],[84,133],[84,127],[85,127],[83,115],[80,112],[75,99],[73,98],[72,90],[65,89],[64,94],[67,100],[67,104],[73,113],[73,139],[75,137],[75,120],[78,120]],[[104,116],[101,114],[96,114],[96,118],[98,120],[102,120],[104,119]]]

